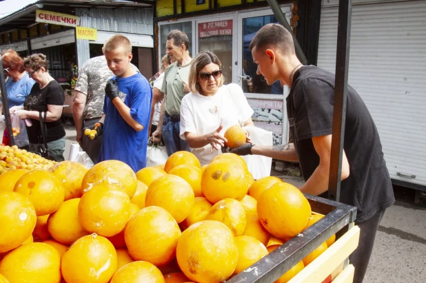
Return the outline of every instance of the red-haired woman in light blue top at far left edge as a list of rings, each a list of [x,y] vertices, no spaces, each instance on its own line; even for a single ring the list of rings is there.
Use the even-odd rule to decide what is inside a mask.
[[[8,94],[8,105],[10,114],[17,109],[23,109],[23,102],[30,94],[34,80],[28,76],[23,67],[23,59],[14,50],[6,50],[1,53],[3,61],[3,72],[8,76],[6,81],[6,92]]]

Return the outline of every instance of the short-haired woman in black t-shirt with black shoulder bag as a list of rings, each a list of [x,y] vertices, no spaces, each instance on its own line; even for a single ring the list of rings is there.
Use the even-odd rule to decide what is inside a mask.
[[[41,134],[39,115],[45,120],[48,133],[45,136],[50,155],[56,161],[63,161],[65,149],[65,129],[61,124],[61,114],[65,94],[61,85],[50,76],[48,61],[43,54],[33,54],[23,61],[28,75],[36,81],[31,92],[23,103],[25,110],[19,111],[19,118],[30,118],[32,125],[28,127],[30,151],[37,151],[39,145],[44,146]],[[45,117],[45,118],[44,118]]]

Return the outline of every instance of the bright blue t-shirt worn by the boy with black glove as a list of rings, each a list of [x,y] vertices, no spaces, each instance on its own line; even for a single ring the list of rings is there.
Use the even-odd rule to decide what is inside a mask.
[[[103,112],[103,134],[99,162],[103,160],[121,160],[137,172],[146,167],[146,149],[148,145],[148,124],[150,123],[152,89],[150,83],[141,73],[116,78],[121,101],[130,108],[130,115],[143,125],[141,132],[136,132],[121,117],[119,111],[105,96]]]

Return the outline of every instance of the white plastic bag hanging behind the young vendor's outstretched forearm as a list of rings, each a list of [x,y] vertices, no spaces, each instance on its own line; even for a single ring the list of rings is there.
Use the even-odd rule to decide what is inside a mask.
[[[243,127],[250,133],[253,145],[272,145],[272,132],[258,127]],[[260,155],[241,156],[255,180],[270,176],[272,158]]]

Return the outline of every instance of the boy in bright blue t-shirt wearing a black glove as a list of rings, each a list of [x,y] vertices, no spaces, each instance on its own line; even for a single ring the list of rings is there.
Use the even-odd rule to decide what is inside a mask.
[[[146,167],[152,89],[130,65],[132,45],[127,37],[110,37],[103,45],[103,54],[115,76],[105,86],[99,120],[103,124],[97,127],[102,134],[98,160],[121,160],[137,172]]]

